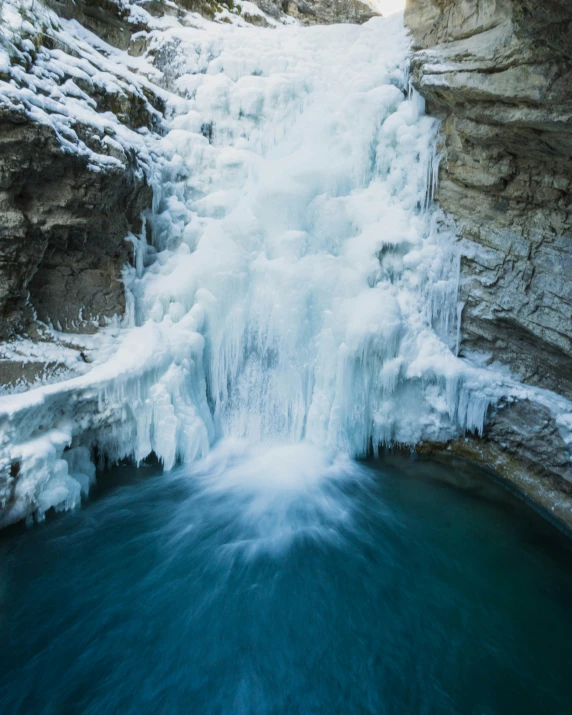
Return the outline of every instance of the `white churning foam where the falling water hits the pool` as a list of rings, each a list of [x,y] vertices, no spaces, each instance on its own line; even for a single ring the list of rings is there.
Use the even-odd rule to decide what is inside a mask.
[[[197,512],[216,514],[221,524],[233,525],[220,553],[229,565],[237,556],[283,552],[299,538],[338,541],[338,527],[351,530],[360,506],[345,490],[369,486],[371,474],[347,455],[308,443],[221,440],[206,459],[171,473],[174,482],[192,480],[192,489],[167,529],[196,528]]]

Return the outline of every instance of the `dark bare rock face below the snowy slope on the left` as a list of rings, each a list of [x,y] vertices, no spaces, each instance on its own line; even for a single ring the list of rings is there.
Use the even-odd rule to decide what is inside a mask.
[[[151,201],[129,166],[105,172],[64,153],[53,130],[0,114],[2,337],[35,312],[66,332],[93,332],[125,308],[125,236]]]

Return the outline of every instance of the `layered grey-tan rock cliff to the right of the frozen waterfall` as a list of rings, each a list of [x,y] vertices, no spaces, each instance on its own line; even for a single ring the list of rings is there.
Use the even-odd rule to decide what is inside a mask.
[[[436,198],[463,241],[461,354],[570,398],[572,5],[408,0],[405,21],[413,84],[443,119]],[[570,488],[544,408],[501,411],[488,439]]]

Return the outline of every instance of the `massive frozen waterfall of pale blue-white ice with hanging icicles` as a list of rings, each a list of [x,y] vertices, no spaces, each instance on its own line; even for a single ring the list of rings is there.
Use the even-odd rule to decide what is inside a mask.
[[[74,506],[86,447],[166,469],[223,436],[361,456],[480,431],[498,398],[501,378],[455,355],[458,256],[431,206],[437,126],[408,91],[402,16],[196,25],[157,26],[137,59],[172,118],[136,138],[155,200],[129,237],[125,324],[87,374],[0,399],[9,520]]]

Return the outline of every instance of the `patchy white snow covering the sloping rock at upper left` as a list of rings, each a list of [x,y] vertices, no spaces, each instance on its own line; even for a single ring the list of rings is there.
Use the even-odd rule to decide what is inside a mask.
[[[24,18],[29,17],[33,24]],[[94,95],[135,97],[158,123],[162,117],[149,103],[146,91],[164,99],[166,93],[143,73],[135,75],[124,62],[125,53],[106,46],[76,22],[66,22],[39,3],[6,0],[0,23],[0,107],[23,113],[50,126],[62,147],[85,156],[94,170],[120,166],[135,154],[138,169],[152,175],[154,142],[130,129],[111,112],[97,107]],[[49,37],[54,49],[36,44]],[[34,41],[32,41],[34,40]],[[90,41],[93,43],[90,44]],[[65,48],[65,51],[60,49]],[[140,69],[144,70],[142,63]],[[4,69],[2,69],[4,68]],[[81,89],[80,86],[84,87]]]

